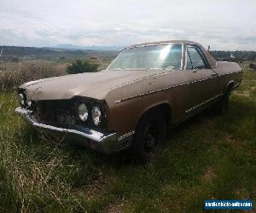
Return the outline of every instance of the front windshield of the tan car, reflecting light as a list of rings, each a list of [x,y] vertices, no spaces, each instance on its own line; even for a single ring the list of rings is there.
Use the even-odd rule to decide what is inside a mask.
[[[160,44],[124,49],[108,69],[180,69],[181,44]]]

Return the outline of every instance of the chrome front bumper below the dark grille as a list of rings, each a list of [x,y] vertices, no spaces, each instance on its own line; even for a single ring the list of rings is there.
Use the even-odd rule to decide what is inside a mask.
[[[91,147],[102,153],[115,153],[117,152],[117,136],[115,133],[104,134],[96,130],[90,130],[89,128],[77,126],[78,130],[63,129],[48,124],[40,124],[33,117],[32,111],[18,107],[15,112],[20,114],[23,118],[26,118],[32,126],[49,132],[51,135],[61,135],[65,140],[75,142],[79,145]]]

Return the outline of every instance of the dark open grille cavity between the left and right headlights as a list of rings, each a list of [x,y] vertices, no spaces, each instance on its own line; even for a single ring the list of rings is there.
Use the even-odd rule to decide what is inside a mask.
[[[71,101],[32,101],[33,116],[40,124],[72,129],[76,116]]]

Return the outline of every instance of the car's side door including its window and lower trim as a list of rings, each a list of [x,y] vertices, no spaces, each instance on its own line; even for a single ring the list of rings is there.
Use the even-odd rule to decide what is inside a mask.
[[[197,45],[186,46],[184,72],[189,75],[189,108],[186,113],[203,109],[217,95],[218,74]]]

